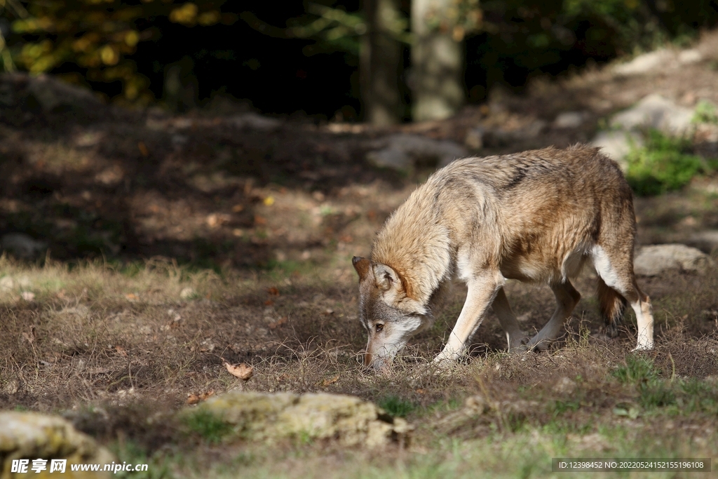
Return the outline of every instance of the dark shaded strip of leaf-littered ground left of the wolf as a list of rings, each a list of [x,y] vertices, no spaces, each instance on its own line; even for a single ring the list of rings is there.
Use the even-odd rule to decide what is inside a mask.
[[[50,89],[57,83],[47,81]],[[256,206],[271,201],[268,187],[330,197],[378,180],[406,185],[402,175],[365,164],[357,135],[311,122],[255,113],[172,117],[83,103],[62,91],[44,108],[52,101],[38,99],[24,75],[5,75],[0,88],[0,233],[45,242],[54,259],[165,256],[214,269],[264,267],[274,248],[318,245],[281,245],[261,231],[238,236],[266,223]],[[321,226],[331,235],[352,220],[322,213]],[[43,256],[36,253],[28,256]]]

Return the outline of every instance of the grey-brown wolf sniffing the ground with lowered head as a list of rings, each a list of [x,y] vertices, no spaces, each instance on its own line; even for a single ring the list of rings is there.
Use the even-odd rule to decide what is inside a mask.
[[[368,331],[363,363],[386,368],[411,335],[433,324],[454,281],[467,285],[466,300],[434,361],[457,361],[489,307],[509,351],[546,349],[579,302],[570,279],[587,263],[598,274],[607,331],[617,334],[628,302],[638,323],[635,350],[650,350],[653,314],[633,272],[635,233],[633,193],[597,148],[457,159],[389,216],[369,259],[352,259]],[[506,279],[546,283],[554,292],[554,315],[533,338],[511,310]]]

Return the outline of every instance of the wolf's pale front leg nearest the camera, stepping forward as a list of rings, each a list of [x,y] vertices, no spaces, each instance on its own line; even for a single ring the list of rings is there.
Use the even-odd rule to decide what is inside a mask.
[[[493,271],[485,271],[467,282],[466,302],[444,350],[434,359],[435,363],[457,361],[465,353],[468,341],[481,324],[486,310],[504,282],[503,276]]]

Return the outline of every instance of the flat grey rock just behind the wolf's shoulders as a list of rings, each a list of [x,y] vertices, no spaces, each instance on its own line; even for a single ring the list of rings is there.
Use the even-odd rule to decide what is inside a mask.
[[[436,163],[444,167],[454,159],[467,156],[460,144],[450,140],[435,140],[413,134],[395,134],[374,142],[366,159],[381,168],[400,171],[412,169],[419,162]]]

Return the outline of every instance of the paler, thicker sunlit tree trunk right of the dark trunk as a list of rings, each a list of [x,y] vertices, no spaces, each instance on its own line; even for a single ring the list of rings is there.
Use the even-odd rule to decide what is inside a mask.
[[[430,15],[445,18],[452,0],[412,0],[411,103],[414,121],[441,120],[464,103],[462,45],[452,32],[432,30]]]

